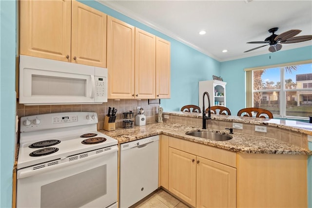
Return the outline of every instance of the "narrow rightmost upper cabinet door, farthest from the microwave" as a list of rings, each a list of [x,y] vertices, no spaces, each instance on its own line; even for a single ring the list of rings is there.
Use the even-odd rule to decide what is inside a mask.
[[[156,37],[156,98],[170,98],[170,42]]]

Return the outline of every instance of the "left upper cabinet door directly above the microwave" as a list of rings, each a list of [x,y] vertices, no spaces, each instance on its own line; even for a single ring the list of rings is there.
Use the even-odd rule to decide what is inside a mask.
[[[70,62],[70,53],[71,1],[21,0],[20,54]]]

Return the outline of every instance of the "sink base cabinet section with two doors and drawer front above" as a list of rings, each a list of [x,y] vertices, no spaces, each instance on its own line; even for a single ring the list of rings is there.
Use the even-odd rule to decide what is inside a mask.
[[[234,152],[169,137],[169,191],[198,208],[236,207],[236,168],[214,153],[235,165]]]

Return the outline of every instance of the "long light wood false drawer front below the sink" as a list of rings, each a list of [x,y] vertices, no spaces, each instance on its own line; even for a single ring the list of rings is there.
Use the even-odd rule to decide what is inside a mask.
[[[187,141],[184,139],[178,139],[171,136],[169,137],[169,147],[181,151],[186,151],[191,154],[195,154],[236,168],[236,153],[232,151],[221,150],[219,148]]]

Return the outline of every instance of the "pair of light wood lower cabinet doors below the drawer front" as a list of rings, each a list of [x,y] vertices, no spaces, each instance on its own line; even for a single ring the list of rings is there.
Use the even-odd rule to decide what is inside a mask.
[[[169,191],[197,208],[234,208],[236,169],[169,148]]]

